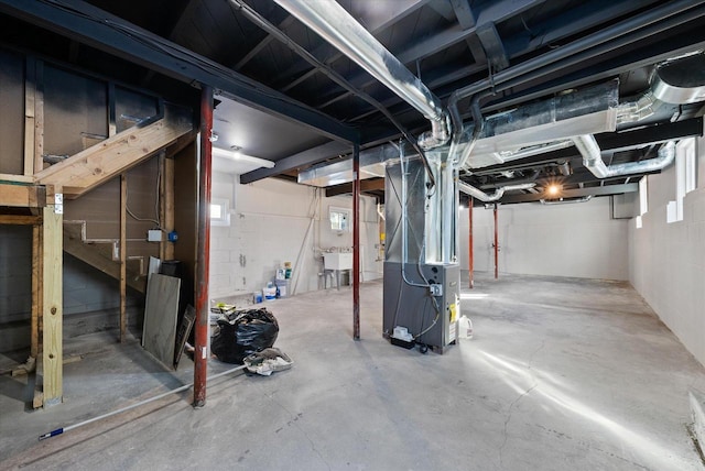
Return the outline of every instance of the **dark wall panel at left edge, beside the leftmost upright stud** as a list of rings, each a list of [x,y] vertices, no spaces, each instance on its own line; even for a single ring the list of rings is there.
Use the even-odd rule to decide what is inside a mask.
[[[24,174],[24,61],[0,51],[0,173]]]

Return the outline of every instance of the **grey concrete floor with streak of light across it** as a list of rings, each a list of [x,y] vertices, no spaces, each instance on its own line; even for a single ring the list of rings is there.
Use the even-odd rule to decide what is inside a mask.
[[[65,402],[29,412],[28,379],[0,376],[0,469],[703,470],[687,392],[705,369],[625,283],[476,275],[475,337],[444,355],[381,337],[381,283],[267,303],[293,369],[234,375],[37,441],[191,382],[133,341],[67,343]],[[232,365],[212,361],[213,372]]]

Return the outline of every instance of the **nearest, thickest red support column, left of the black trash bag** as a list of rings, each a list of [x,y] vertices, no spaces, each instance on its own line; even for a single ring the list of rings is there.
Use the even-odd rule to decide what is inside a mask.
[[[200,89],[200,146],[198,165],[198,241],[196,249],[196,322],[194,325],[194,407],[206,405],[208,368],[208,272],[210,256],[210,164],[213,145],[213,87]]]

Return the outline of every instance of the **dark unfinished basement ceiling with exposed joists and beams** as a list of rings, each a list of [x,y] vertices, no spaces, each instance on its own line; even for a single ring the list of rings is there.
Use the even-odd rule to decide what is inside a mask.
[[[216,146],[241,147],[274,162],[241,182],[295,178],[314,165],[397,143],[386,114],[416,136],[430,124],[410,105],[340,54],[274,1],[261,0],[0,0],[2,42],[167,97],[215,87]],[[618,80],[619,103],[637,102],[652,87],[657,66],[705,48],[705,1],[649,0],[388,0],[339,1],[361,25],[444,103],[463,87],[489,80],[482,113],[538,106],[567,91]],[[629,28],[621,28],[629,25]],[[620,34],[611,34],[621,28]],[[529,67],[562,48],[605,35],[579,61],[541,67],[495,84],[502,73]],[[597,44],[597,43],[596,43]],[[598,50],[599,48],[599,50]],[[108,54],[106,54],[108,53]],[[169,90],[169,92],[165,92]],[[191,98],[193,101],[194,98]],[[384,110],[381,110],[383,108]],[[654,158],[663,142],[702,133],[702,103],[657,102],[646,118],[595,133],[606,165]],[[473,122],[469,99],[458,102]],[[641,174],[599,178],[572,143],[467,167],[460,178],[487,194],[507,185],[499,202],[544,197],[558,182],[575,197],[636,190]],[[381,197],[375,178],[364,187]],[[345,186],[330,191],[339,194]]]

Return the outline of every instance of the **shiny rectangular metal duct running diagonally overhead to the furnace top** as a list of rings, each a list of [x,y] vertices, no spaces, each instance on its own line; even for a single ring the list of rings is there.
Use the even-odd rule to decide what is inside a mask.
[[[335,1],[275,1],[429,119],[431,136],[420,145],[448,141],[448,114],[441,100],[343,7]]]

